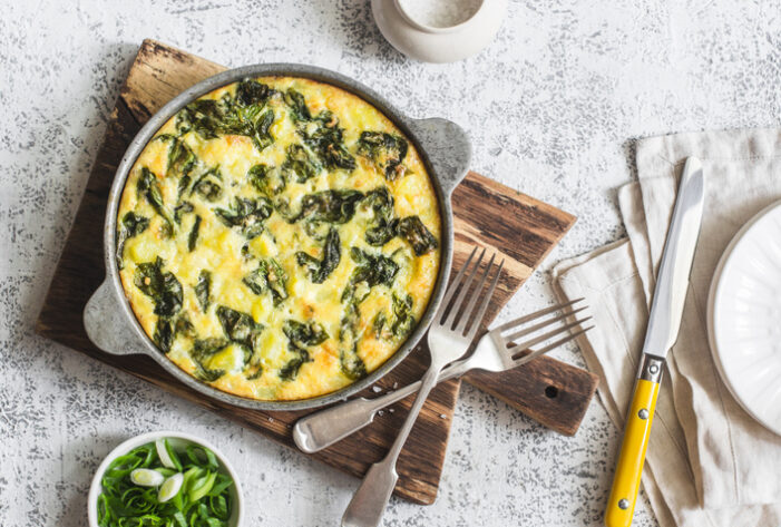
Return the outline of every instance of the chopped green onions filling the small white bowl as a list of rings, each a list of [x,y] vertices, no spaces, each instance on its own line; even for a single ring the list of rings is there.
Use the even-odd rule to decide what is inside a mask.
[[[233,480],[219,470],[214,452],[188,446],[178,452],[164,441],[175,468],[164,466],[154,443],[143,445],[116,458],[101,476],[97,516],[100,527],[227,527],[233,511]],[[130,479],[137,469],[165,477],[183,476],[179,491],[160,502],[158,489],[139,487]]]

